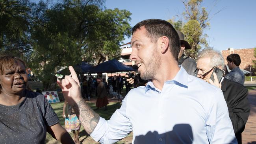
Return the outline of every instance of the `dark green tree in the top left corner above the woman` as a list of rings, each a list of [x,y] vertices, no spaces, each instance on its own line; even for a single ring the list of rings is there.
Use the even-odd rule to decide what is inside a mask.
[[[0,0],[0,50],[26,60],[31,52],[28,0]]]

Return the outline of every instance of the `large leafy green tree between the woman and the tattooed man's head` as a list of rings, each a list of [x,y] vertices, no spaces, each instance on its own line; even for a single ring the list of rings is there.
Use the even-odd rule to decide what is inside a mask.
[[[60,68],[115,57],[124,36],[130,36],[131,13],[103,11],[101,4],[100,0],[63,0],[52,6],[42,1],[32,5],[30,66],[45,89],[54,88],[54,74]]]

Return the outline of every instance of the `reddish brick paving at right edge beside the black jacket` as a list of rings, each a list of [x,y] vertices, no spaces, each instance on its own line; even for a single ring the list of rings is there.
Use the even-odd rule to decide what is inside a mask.
[[[250,115],[242,133],[243,144],[256,144],[256,90],[249,90]]]

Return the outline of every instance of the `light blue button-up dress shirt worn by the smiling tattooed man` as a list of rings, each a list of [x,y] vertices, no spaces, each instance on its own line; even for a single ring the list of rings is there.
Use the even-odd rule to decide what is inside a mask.
[[[130,90],[110,120],[100,118],[91,137],[102,144],[133,131],[133,144],[237,144],[221,89],[180,68],[157,89]]]

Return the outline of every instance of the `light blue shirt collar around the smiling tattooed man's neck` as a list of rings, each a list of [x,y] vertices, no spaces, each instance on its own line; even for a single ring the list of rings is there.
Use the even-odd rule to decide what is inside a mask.
[[[187,74],[186,70],[181,65],[179,65],[179,66],[180,66],[180,70],[178,71],[176,76],[173,79],[171,79],[171,80],[165,81],[165,83],[167,83],[167,84],[175,84],[175,85],[178,85],[180,87],[187,88],[187,77],[188,77],[188,74]],[[145,93],[149,89],[158,90],[154,86],[154,84],[153,84],[151,79],[148,81],[148,83],[147,83],[147,85],[145,87]]]

